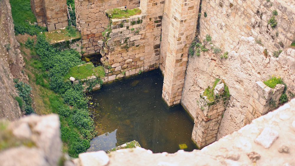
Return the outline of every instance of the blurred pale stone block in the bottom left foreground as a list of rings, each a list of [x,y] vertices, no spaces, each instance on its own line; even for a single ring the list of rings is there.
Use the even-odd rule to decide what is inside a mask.
[[[0,137],[0,142],[20,142],[21,146],[8,147],[1,151],[1,165],[58,165],[62,156],[58,115],[30,115],[18,121],[4,123],[8,125],[1,126],[4,127],[1,134],[7,132],[13,135],[9,140],[1,140],[4,137]]]

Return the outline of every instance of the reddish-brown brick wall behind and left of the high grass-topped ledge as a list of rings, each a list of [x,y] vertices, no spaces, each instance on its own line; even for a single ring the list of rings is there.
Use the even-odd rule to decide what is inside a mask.
[[[139,7],[139,2],[139,0],[76,0],[76,24],[77,29],[81,32],[82,50],[85,52],[83,56],[100,52],[101,47],[97,42],[104,38],[101,32],[109,24],[109,19],[105,14],[107,9],[121,6],[127,6],[127,9],[133,9]]]

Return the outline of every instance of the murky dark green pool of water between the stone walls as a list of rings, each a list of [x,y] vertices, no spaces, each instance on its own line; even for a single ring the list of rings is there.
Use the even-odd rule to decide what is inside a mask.
[[[89,93],[98,137],[88,151],[106,151],[133,140],[154,153],[196,149],[191,141],[194,123],[181,105],[165,106],[162,87],[160,71],[153,70]]]

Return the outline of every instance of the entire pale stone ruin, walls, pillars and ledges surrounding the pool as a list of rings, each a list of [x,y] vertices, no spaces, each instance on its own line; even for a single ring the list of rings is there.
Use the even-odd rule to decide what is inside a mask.
[[[30,0],[30,4],[37,24],[45,24],[48,31],[68,26],[66,0]],[[107,16],[110,9],[125,6],[141,13],[122,19]],[[15,120],[22,113],[13,98],[17,92],[12,78],[22,75],[25,63],[14,37],[9,1],[0,1],[0,7],[0,94],[4,96],[0,115]],[[81,58],[101,56],[104,83],[159,68],[164,75],[163,100],[187,110],[194,119],[192,140],[204,148],[152,154],[138,147],[69,159],[61,155],[58,116],[29,116],[1,121],[8,126],[5,134],[24,146],[0,152],[0,163],[57,165],[62,157],[65,165],[84,166],[130,161],[134,165],[294,165],[295,101],[276,109],[283,93],[289,99],[295,93],[294,1],[75,0],[75,8],[81,40],[69,47],[79,47]],[[13,49],[8,49],[8,42]],[[281,54],[274,56],[278,50]],[[266,86],[262,81],[270,75],[280,76],[285,84]],[[22,75],[22,80],[29,78]],[[86,91],[88,85],[83,87]],[[38,160],[30,158],[34,155]]]

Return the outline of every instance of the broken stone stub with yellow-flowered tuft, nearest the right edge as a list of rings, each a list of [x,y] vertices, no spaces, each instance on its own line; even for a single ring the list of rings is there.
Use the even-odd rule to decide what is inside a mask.
[[[268,111],[275,109],[284,88],[283,84],[277,84],[275,88],[270,88],[263,82],[257,81],[254,85],[253,95],[250,97],[243,126],[251,123],[253,119],[266,114]],[[272,106],[271,102],[275,103],[275,106]]]

